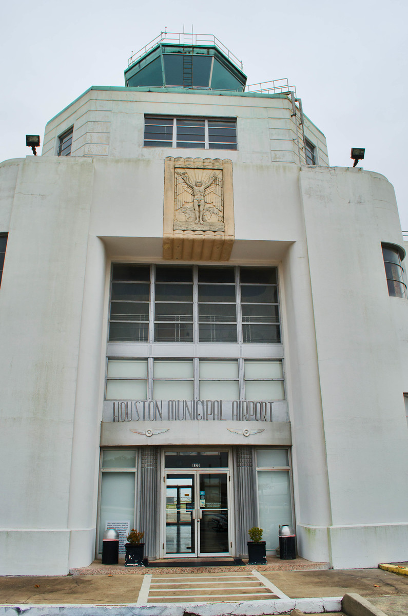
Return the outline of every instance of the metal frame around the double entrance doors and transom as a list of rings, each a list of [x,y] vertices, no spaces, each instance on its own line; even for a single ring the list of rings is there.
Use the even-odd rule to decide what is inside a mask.
[[[212,448],[211,448],[212,449]],[[165,468],[165,459],[166,453],[172,453],[174,451],[210,451],[210,448],[198,448],[198,447],[189,447],[183,448],[182,450],[177,448],[176,450],[170,448],[163,448],[163,455],[161,456],[161,476],[163,480],[161,481],[161,490],[160,490],[160,550],[159,550],[159,558],[203,558],[203,557],[214,557],[214,556],[234,556],[235,555],[235,516],[234,511],[235,508],[233,506],[234,499],[234,477],[232,474],[232,451],[230,448],[219,447],[214,448],[214,451],[227,451],[228,452],[228,468]],[[225,473],[227,476],[227,499],[228,499],[228,543],[229,550],[228,552],[218,552],[218,553],[206,553],[200,554],[198,552],[198,524],[195,524],[195,545],[196,552],[194,554],[166,554],[166,476],[167,474],[171,475],[187,475],[194,474],[195,475],[195,491],[196,495],[199,496],[199,475],[203,474],[220,474]],[[196,510],[199,509],[197,505],[199,504],[199,500],[196,503]]]

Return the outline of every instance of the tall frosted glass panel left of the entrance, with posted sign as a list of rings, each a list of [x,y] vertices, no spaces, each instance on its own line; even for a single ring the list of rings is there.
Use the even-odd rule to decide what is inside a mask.
[[[102,552],[106,522],[134,525],[134,472],[104,472],[100,487],[99,552]]]

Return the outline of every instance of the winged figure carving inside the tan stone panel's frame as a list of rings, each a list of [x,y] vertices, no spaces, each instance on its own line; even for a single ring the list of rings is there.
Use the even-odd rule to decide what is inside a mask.
[[[188,222],[223,222],[221,172],[176,171],[176,213]]]

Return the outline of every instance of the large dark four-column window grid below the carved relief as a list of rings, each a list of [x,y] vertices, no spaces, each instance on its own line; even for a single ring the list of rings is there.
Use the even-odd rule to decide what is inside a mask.
[[[112,268],[110,342],[280,342],[277,269]]]

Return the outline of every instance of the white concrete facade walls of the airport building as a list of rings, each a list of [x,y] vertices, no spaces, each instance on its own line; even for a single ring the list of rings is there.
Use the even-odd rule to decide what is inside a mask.
[[[144,147],[147,113],[237,118],[238,149]],[[408,301],[389,296],[381,253],[403,244],[393,187],[329,167],[307,119],[318,164],[300,164],[291,113],[284,95],[92,88],[47,124],[42,156],[0,165],[0,575],[94,559],[100,445],[285,445],[301,556],[335,568],[406,559]],[[56,156],[70,126],[71,156]],[[284,359],[290,421],[249,439],[198,422],[171,439],[100,428],[111,263],[163,263],[169,155],[232,160],[222,265],[278,268],[282,344],[258,352]],[[148,346],[137,354],[172,357]]]

